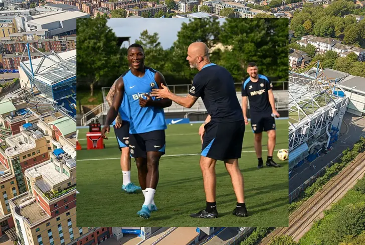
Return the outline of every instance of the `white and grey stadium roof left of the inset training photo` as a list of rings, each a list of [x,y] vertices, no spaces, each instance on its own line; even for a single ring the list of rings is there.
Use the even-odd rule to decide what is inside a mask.
[[[66,62],[60,60],[56,55],[49,55],[48,57],[57,63],[45,57],[32,59],[33,71],[35,73],[34,77],[49,85],[54,85],[76,76],[76,50],[57,53],[57,55]],[[30,61],[21,62],[21,67],[23,68],[23,66],[25,66],[28,69],[28,73],[31,74]],[[37,70],[38,67],[39,70]]]

